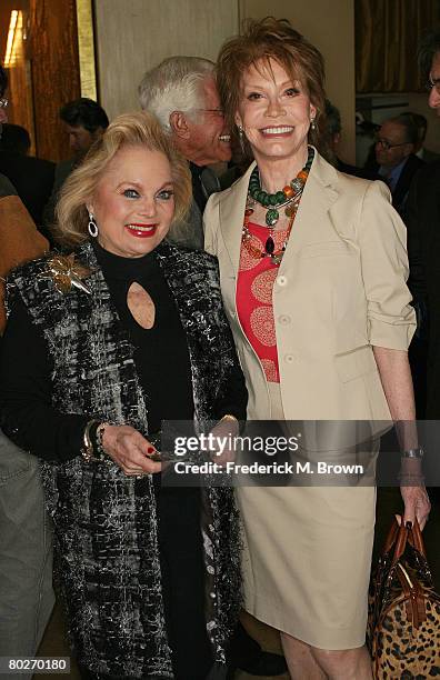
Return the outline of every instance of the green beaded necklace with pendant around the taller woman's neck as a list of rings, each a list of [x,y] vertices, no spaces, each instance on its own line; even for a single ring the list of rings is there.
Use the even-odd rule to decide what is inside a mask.
[[[261,189],[258,167],[256,166],[256,168],[253,168],[249,179],[248,194],[260,203],[260,206],[267,208],[266,223],[268,227],[274,227],[277,224],[280,218],[280,213],[277,210],[278,208],[286,206],[286,203],[289,203],[301,194],[313,161],[313,156],[314,151],[309,147],[306,166],[298,172],[297,177],[292,179],[290,184],[287,184],[281,191],[276,191],[276,193],[268,193]]]

